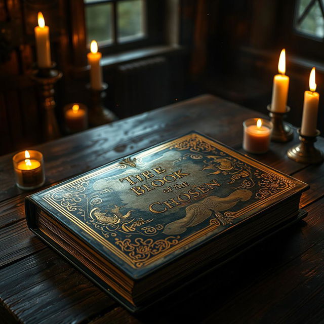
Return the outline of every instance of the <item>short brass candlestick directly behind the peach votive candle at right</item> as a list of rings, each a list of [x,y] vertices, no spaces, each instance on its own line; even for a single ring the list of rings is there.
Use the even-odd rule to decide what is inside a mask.
[[[290,111],[290,107],[286,106],[285,112],[271,111],[271,105],[267,105],[269,116],[273,124],[271,141],[285,143],[294,138],[294,129],[291,124],[284,123],[286,113]]]

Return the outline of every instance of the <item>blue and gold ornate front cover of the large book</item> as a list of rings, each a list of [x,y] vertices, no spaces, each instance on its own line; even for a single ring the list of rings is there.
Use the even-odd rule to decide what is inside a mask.
[[[306,186],[192,132],[31,199],[139,278]]]

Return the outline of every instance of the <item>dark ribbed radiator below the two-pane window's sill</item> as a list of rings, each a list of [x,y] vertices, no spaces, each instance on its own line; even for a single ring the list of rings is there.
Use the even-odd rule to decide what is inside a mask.
[[[119,65],[116,73],[116,113],[124,118],[169,103],[169,69],[165,57]]]

